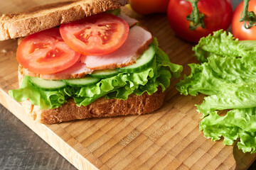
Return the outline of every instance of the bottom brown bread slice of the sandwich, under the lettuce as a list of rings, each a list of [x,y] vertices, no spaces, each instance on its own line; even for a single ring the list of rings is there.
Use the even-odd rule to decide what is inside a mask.
[[[21,85],[23,73],[18,72],[18,81]],[[73,98],[68,98],[68,102],[60,108],[40,110],[38,106],[33,106],[30,101],[23,101],[21,104],[24,111],[33,120],[43,124],[60,123],[70,120],[85,118],[114,117],[118,115],[142,115],[151,113],[160,108],[164,103],[166,92],[159,88],[156,93],[149,96],[144,93],[142,96],[131,94],[127,100],[99,98],[88,106],[78,107]]]

